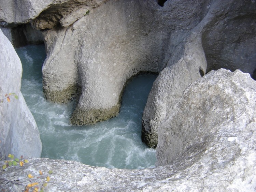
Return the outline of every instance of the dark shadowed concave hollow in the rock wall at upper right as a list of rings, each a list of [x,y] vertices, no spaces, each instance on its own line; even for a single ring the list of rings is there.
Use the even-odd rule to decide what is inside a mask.
[[[256,69],[256,3],[239,4],[228,4],[225,16],[216,10],[203,29],[207,72],[225,68],[240,69],[252,75]],[[224,6],[227,5],[224,3]]]

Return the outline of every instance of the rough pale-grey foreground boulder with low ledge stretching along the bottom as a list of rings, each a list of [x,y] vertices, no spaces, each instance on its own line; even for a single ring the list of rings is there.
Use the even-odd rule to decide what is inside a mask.
[[[249,74],[212,71],[185,90],[162,123],[157,162],[163,166],[108,169],[30,158],[23,167],[1,169],[0,187],[41,187],[50,176],[44,191],[255,191],[255,100],[256,82]]]

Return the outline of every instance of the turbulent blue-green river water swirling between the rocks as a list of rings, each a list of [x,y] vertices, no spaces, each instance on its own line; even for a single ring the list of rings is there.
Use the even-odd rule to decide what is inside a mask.
[[[56,104],[44,98],[44,45],[28,45],[16,51],[23,65],[21,91],[40,131],[42,157],[108,168],[154,167],[155,150],[141,142],[141,118],[155,75],[131,80],[117,117],[95,125],[72,126],[69,119],[74,102]]]

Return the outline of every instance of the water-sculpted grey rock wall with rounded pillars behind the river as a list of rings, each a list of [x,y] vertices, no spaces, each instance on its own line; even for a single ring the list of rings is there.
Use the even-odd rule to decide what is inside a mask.
[[[255,76],[255,1],[1,0],[0,6],[2,25],[30,21],[44,29],[44,92],[63,103],[81,94],[73,124],[115,116],[127,79],[160,72],[142,121],[151,147],[197,78],[219,68]]]

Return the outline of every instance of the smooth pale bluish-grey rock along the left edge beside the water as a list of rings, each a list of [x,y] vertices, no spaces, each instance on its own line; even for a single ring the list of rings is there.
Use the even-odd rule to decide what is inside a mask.
[[[16,93],[18,99],[10,97],[0,103],[0,158],[9,153],[16,157],[40,157],[42,143],[37,124],[20,92],[22,64],[12,44],[0,30],[0,99],[6,93]]]

